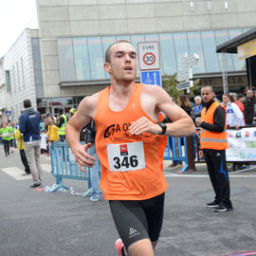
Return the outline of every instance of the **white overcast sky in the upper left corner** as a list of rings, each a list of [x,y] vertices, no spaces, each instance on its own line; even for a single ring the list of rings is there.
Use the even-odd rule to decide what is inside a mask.
[[[0,0],[0,58],[27,27],[38,28],[36,0]]]

